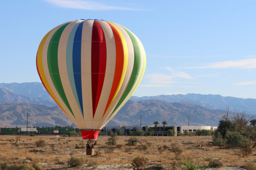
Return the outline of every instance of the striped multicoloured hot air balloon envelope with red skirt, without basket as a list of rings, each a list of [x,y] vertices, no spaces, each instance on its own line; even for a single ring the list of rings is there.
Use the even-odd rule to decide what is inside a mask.
[[[138,87],[146,53],[138,37],[122,25],[76,20],[44,36],[36,66],[51,97],[82,138],[91,140]]]

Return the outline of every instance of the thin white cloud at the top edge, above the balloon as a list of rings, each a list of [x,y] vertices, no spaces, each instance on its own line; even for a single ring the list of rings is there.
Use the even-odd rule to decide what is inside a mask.
[[[67,7],[67,8],[83,9],[83,10],[138,10],[138,9],[133,9],[128,7],[104,5],[100,2],[87,1],[87,0],[44,0],[44,1],[57,5],[59,7]]]

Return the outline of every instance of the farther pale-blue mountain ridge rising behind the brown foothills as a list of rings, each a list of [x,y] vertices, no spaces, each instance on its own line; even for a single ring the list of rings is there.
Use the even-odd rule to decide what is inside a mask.
[[[19,98],[19,102],[28,102],[34,104],[43,105],[54,105],[56,106],[54,100],[45,90],[41,82],[24,82],[24,83],[0,83],[0,87],[4,90],[18,93],[18,95],[23,96],[26,100]],[[10,94],[10,93],[9,93]],[[30,102],[26,97],[32,97],[34,102]],[[0,94],[0,100],[3,97]],[[10,94],[10,98],[12,95]],[[3,100],[5,102],[16,102],[14,100]],[[243,112],[250,114],[256,114],[256,99],[243,99],[237,97],[223,97],[221,95],[200,95],[200,94],[187,94],[187,95],[158,95],[158,96],[144,96],[136,97],[132,96],[130,98],[134,101],[141,100],[164,100],[166,102],[191,102],[209,109],[220,109],[226,110],[226,107],[230,108],[230,111]],[[17,99],[18,100],[18,99]],[[45,101],[44,101],[45,100]],[[36,101],[36,102],[35,102]]]

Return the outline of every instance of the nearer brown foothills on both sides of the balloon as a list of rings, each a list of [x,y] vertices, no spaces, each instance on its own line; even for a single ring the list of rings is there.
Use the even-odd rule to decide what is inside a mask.
[[[2,103],[0,104],[0,122],[3,126],[26,125],[55,126],[73,125],[69,118],[58,106],[50,107],[30,103]],[[190,125],[217,126],[223,110],[211,110],[200,105],[187,102],[164,102],[162,100],[128,101],[113,117],[108,125],[152,125],[154,121],[167,121],[168,125],[187,125],[187,116],[190,116]],[[74,126],[74,125],[73,125]]]

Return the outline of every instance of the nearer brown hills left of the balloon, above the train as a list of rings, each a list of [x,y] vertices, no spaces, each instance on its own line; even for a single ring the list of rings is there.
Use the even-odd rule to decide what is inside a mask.
[[[27,113],[28,125],[31,126],[74,126],[59,106],[50,107],[30,103],[0,104],[0,122],[3,122],[3,127],[26,126]]]

